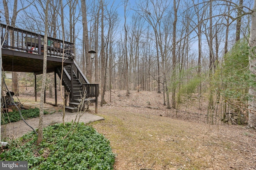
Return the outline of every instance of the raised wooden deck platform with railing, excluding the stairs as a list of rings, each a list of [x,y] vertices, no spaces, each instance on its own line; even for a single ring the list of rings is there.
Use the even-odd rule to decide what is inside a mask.
[[[2,66],[4,71],[33,72],[43,70],[44,35],[1,24]],[[47,72],[73,64],[74,43],[47,37]]]

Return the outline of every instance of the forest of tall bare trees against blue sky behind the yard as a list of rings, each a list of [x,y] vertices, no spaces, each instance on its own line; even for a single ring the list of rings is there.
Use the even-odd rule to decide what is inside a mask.
[[[43,34],[40,2],[3,0],[1,22]],[[249,68],[254,46],[248,46],[253,3],[50,0],[48,36],[75,43],[75,60],[91,83],[100,84],[102,104],[104,91],[111,89],[126,90],[127,96],[129,90],[155,91],[163,105],[176,109],[194,96],[199,109],[207,98],[208,123],[225,121],[229,113],[244,124],[255,109],[249,94],[255,86]],[[94,59],[90,49],[97,52]]]

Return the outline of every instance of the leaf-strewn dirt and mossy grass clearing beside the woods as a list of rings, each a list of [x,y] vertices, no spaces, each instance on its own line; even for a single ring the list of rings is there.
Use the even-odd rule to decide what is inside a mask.
[[[192,99],[177,111],[166,109],[156,92],[125,94],[107,91],[98,114],[90,106],[105,119],[90,124],[110,140],[115,170],[256,170],[256,131],[220,120],[207,124],[207,102],[198,109]],[[20,98],[34,100],[28,93]]]

